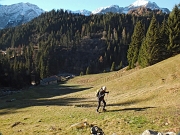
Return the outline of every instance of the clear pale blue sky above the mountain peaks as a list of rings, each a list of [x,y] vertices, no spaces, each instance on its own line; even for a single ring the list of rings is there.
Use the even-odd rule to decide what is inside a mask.
[[[100,7],[110,5],[119,5],[120,7],[129,6],[136,0],[0,0],[1,5],[11,5],[20,2],[29,2],[37,5],[43,10],[50,11],[52,9],[69,9],[72,11],[87,9],[93,11]],[[175,4],[179,4],[179,0],[150,0],[155,2],[159,7],[166,7],[172,10]]]

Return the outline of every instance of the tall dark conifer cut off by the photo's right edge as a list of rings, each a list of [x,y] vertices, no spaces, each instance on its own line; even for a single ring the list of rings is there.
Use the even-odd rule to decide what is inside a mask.
[[[171,55],[180,53],[180,4],[175,5],[168,17],[169,41],[168,51]]]

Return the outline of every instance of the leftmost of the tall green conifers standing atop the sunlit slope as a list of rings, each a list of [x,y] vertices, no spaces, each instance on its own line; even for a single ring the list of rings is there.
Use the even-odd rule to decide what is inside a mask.
[[[134,32],[129,45],[127,58],[129,68],[134,68],[135,63],[138,60],[139,49],[142,44],[143,38],[145,37],[145,28],[141,21],[138,21],[135,25]]]

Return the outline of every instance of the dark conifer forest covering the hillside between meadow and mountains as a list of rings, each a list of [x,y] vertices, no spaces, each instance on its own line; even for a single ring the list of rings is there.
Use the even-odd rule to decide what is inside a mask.
[[[61,71],[82,75],[155,64],[179,53],[179,16],[179,5],[170,15],[46,12],[0,31],[0,85],[29,85],[31,74],[38,81]]]

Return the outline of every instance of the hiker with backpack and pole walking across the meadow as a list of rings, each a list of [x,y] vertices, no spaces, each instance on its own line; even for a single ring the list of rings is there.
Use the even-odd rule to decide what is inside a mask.
[[[96,112],[99,112],[99,108],[101,106],[101,101],[103,102],[103,111],[106,111],[106,102],[104,100],[105,93],[109,93],[109,91],[106,91],[106,86],[103,86],[97,93],[98,98],[98,106]]]

